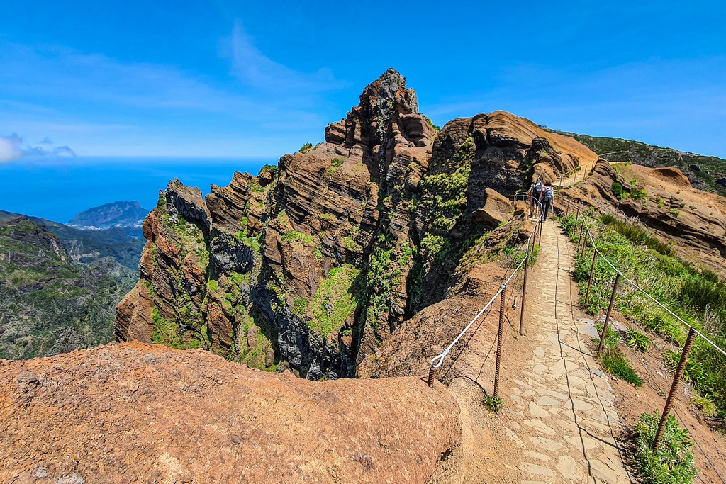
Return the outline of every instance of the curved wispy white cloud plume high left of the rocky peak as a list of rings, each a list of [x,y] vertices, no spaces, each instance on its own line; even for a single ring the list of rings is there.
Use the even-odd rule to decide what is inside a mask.
[[[256,88],[310,93],[340,89],[347,85],[336,79],[327,68],[304,73],[274,62],[256,48],[239,20],[234,22],[232,36],[229,38],[229,54],[232,57],[234,75]]]

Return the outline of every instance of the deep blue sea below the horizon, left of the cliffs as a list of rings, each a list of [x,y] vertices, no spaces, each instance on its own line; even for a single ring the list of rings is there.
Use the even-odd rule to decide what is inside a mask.
[[[160,189],[178,178],[203,194],[226,186],[235,171],[256,175],[275,160],[213,158],[75,157],[0,163],[0,210],[66,223],[76,213],[116,200],[156,206]]]

